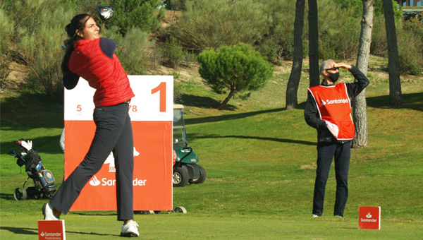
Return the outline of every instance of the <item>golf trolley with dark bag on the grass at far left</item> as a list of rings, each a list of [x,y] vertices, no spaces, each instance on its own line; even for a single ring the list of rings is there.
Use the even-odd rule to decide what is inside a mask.
[[[56,193],[56,184],[54,184],[54,176],[50,170],[45,169],[41,163],[41,157],[38,152],[32,149],[32,141],[23,138],[16,140],[22,152],[11,151],[9,155],[16,157],[16,164],[19,167],[25,165],[25,172],[28,175],[27,180],[21,188],[16,188],[13,193],[15,200],[25,200],[27,196],[40,198],[53,198]],[[34,186],[25,189],[25,184],[29,179],[34,181]]]

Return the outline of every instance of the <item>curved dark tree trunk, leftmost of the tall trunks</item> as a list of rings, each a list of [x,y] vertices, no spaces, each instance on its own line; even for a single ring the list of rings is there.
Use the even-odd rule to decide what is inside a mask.
[[[302,27],[304,26],[305,0],[297,0],[295,4],[294,22],[294,59],[293,67],[286,87],[286,109],[295,109],[298,106],[298,85],[300,84],[302,68]]]

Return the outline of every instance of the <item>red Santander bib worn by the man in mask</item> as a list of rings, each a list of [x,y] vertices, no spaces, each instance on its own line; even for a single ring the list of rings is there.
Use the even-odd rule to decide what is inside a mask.
[[[320,119],[337,140],[352,140],[355,127],[351,116],[351,102],[345,83],[309,88],[317,104]]]

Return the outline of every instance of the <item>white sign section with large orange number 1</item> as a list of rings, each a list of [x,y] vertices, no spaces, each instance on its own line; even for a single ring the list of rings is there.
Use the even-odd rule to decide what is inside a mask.
[[[173,121],[173,76],[128,76],[130,87],[137,94],[130,105],[133,121]]]

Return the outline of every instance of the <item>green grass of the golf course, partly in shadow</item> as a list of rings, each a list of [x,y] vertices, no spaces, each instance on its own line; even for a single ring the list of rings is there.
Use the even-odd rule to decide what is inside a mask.
[[[307,74],[300,83],[305,101]],[[289,75],[288,75],[289,76]],[[303,104],[283,110],[286,73],[271,78],[250,99],[231,100],[195,80],[183,83],[190,146],[207,170],[204,184],[173,188],[173,206],[188,214],[135,215],[144,239],[422,239],[423,82],[404,80],[405,103],[388,106],[388,81],[367,88],[369,145],[353,150],[350,196],[343,220],[331,216],[334,172],[326,186],[324,216],[312,219],[316,132],[305,124]],[[370,79],[372,81],[372,79]],[[195,84],[192,84],[195,83]],[[63,152],[59,136],[63,107],[39,96],[2,97],[0,239],[35,239],[46,200],[13,200],[26,179],[13,140],[28,138],[60,184]],[[359,230],[358,208],[381,206],[381,230]],[[71,212],[67,239],[116,239],[115,212]]]

